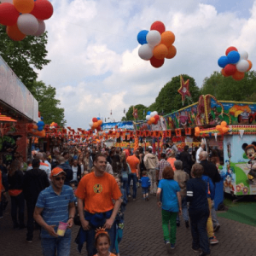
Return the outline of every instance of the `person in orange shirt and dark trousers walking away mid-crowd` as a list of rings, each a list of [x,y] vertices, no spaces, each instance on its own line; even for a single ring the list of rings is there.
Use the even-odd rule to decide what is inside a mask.
[[[128,197],[131,197],[131,192],[130,192],[130,184],[131,184],[131,179],[132,179],[132,198],[133,201],[136,200],[136,195],[137,195],[137,178],[139,177],[139,172],[140,172],[140,160],[138,158],[138,151],[136,150],[134,154],[131,156],[128,156],[126,159],[127,164],[131,168],[131,173],[128,174],[128,186],[129,186],[129,192],[128,192]]]

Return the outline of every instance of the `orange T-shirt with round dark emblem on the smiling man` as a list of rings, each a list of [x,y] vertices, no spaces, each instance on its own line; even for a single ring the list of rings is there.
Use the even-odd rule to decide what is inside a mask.
[[[113,200],[122,196],[118,183],[107,172],[102,177],[96,177],[94,172],[82,177],[75,195],[84,199],[84,210],[90,213],[112,210]]]

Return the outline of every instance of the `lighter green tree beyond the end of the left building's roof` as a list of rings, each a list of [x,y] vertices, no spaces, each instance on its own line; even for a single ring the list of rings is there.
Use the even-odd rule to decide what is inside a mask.
[[[38,101],[39,111],[44,117],[45,124],[57,123],[60,126],[66,124],[64,119],[64,108],[58,108],[60,100],[55,99],[56,89],[52,86],[46,86],[44,82],[33,82],[30,84],[31,93]]]

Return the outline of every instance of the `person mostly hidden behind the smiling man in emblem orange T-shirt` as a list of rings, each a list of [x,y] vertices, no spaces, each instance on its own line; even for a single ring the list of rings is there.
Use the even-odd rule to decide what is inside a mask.
[[[119,243],[123,238],[123,230],[124,230],[124,212],[125,212],[125,206],[127,204],[127,197],[126,197],[126,191],[125,189],[121,189],[121,183],[119,180],[119,177],[115,178],[116,182],[119,185],[119,189],[121,190],[122,193],[122,204],[121,207],[119,208],[119,212],[116,215],[116,236],[115,236],[115,243],[114,243],[114,248],[115,252],[117,253],[117,256],[120,256],[119,254]]]

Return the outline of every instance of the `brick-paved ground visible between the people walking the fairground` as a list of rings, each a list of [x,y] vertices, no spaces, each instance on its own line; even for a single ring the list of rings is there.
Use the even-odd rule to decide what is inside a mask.
[[[120,244],[121,256],[165,256],[166,247],[161,230],[160,208],[155,196],[143,201],[140,190],[137,201],[130,201],[125,212],[124,238]],[[216,234],[220,241],[212,246],[212,256],[256,255],[256,228],[225,218],[219,218],[221,228]],[[73,228],[73,239],[79,227]],[[0,256],[41,256],[39,232],[35,230],[32,243],[26,242],[26,230],[13,230],[10,207],[0,219]],[[80,255],[72,243],[71,255]],[[83,248],[82,255],[87,255]],[[177,228],[177,247],[172,255],[194,256],[191,250],[190,230],[182,222]]]

